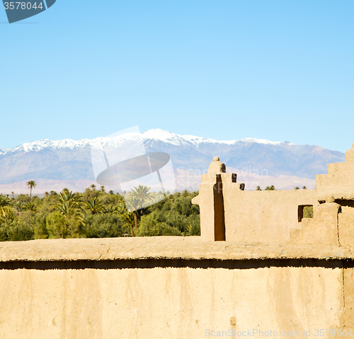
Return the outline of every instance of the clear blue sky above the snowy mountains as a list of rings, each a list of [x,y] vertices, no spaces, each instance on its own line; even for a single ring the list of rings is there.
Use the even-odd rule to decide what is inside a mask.
[[[135,125],[354,142],[353,0],[57,0],[6,22],[0,147]]]

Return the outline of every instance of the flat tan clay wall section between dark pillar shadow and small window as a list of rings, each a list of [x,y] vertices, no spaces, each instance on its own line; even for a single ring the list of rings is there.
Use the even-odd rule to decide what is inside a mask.
[[[290,230],[299,227],[298,206],[319,205],[315,190],[242,191],[230,185],[223,195],[227,241],[290,242]]]

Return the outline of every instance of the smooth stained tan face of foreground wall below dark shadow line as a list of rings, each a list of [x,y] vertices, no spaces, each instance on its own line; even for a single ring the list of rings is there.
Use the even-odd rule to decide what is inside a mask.
[[[322,267],[0,270],[0,338],[302,338],[341,328],[342,281]]]

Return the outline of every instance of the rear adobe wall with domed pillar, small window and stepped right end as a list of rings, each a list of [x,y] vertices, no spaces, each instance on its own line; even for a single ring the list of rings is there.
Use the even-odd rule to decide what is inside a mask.
[[[354,246],[354,144],[345,163],[316,176],[316,190],[245,191],[214,157],[199,195],[202,241],[341,243]],[[302,218],[305,206],[313,218]]]

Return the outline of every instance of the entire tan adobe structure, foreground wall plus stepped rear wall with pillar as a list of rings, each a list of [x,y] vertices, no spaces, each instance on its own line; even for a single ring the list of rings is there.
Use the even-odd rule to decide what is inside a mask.
[[[316,190],[268,192],[215,157],[193,200],[200,237],[0,243],[0,338],[351,338],[346,155]]]

